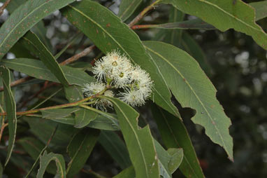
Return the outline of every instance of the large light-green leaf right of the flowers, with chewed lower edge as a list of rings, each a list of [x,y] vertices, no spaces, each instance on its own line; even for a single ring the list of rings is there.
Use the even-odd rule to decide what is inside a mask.
[[[233,160],[233,139],[229,135],[231,120],[216,98],[216,89],[199,67],[199,64],[184,50],[157,41],[144,42],[150,55],[161,66],[161,72],[175,98],[182,107],[196,110],[194,123],[205,128],[212,142],[222,146]]]

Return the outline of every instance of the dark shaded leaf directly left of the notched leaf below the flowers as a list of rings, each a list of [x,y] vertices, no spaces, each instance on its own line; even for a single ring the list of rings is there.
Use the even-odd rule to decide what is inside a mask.
[[[122,169],[131,166],[127,148],[115,132],[102,130],[98,141]]]

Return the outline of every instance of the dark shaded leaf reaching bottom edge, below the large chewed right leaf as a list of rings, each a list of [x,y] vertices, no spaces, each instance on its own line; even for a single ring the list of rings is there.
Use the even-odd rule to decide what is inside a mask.
[[[196,152],[180,118],[168,114],[167,111],[157,107],[155,104],[152,107],[152,114],[157,122],[157,127],[165,146],[168,149],[183,149],[184,157],[179,167],[181,172],[185,177],[203,178],[204,174],[199,165],[199,160],[196,158]]]

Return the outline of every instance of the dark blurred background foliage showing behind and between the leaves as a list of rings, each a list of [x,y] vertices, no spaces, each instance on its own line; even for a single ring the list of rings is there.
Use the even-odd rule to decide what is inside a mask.
[[[99,1],[104,6],[108,6],[114,13],[118,12],[120,1]],[[245,1],[246,3],[255,1]],[[140,12],[150,1],[144,1],[138,8],[136,14]],[[11,7],[10,7],[11,8]],[[12,11],[12,10],[10,10]],[[141,22],[141,24],[159,24],[168,22],[171,12],[171,6],[157,6]],[[267,9],[266,9],[267,11]],[[5,11],[1,16],[1,22],[8,16]],[[133,15],[134,16],[134,15]],[[186,19],[194,17],[185,15]],[[266,18],[259,20],[258,24],[267,29]],[[71,26],[66,18],[63,18],[59,11],[49,15],[43,20],[46,29],[46,38],[49,39],[54,53],[64,48],[68,41],[76,36],[73,45],[68,47],[66,53],[59,58],[59,62],[71,57],[75,52],[89,46],[91,42],[85,36],[78,35],[75,27]],[[136,32],[140,39],[149,40],[159,38],[162,29],[139,29]],[[168,30],[164,29],[166,33]],[[186,31],[194,41],[202,48],[203,52],[196,54],[196,60],[205,58],[205,73],[209,76],[212,83],[217,88],[217,99],[224,107],[225,113],[231,118],[232,125],[230,133],[234,144],[234,163],[226,158],[226,153],[217,144],[213,144],[204,134],[203,128],[194,125],[190,118],[194,116],[192,109],[181,108],[178,103],[182,118],[187,126],[189,135],[192,138],[194,148],[199,157],[201,167],[206,177],[267,177],[267,60],[266,50],[258,46],[250,36],[228,30],[219,32],[218,30],[187,30]],[[185,33],[183,31],[182,33]],[[164,39],[162,39],[164,40]],[[177,46],[182,47],[180,41],[176,41]],[[8,53],[8,58],[27,57],[30,53],[21,53],[23,46],[14,47],[12,53]],[[27,51],[27,50],[25,50]],[[21,55],[21,56],[20,56]],[[101,55],[99,50],[94,50],[87,57],[83,57],[80,62],[75,63],[75,67],[91,67],[90,62],[94,57]],[[24,74],[14,73],[14,79],[22,78]],[[31,81],[31,85],[20,85],[14,88],[16,90],[15,99],[22,103],[18,109],[24,110],[32,105],[41,102],[49,93],[58,90],[57,85],[42,91],[38,97],[31,98],[34,93],[38,93],[44,85]],[[29,100],[32,99],[32,100]],[[57,93],[52,97],[53,102],[59,104],[66,102],[63,92]],[[43,107],[49,106],[47,102]],[[147,108],[140,108],[142,116],[150,121],[150,112]],[[20,121],[17,139],[27,135],[36,135],[36,132],[29,132],[29,123]],[[152,120],[150,125],[154,134],[157,135],[157,128]],[[7,131],[7,130],[6,130]],[[65,143],[66,144],[66,143]],[[62,143],[64,145],[64,143]],[[15,147],[15,151],[20,153],[20,145]],[[24,154],[24,153],[22,153]],[[6,172],[10,176],[17,177],[17,172],[24,172],[23,168],[16,165],[22,163],[20,156],[13,154],[13,163],[9,164]],[[22,162],[19,162],[22,161]],[[33,160],[31,160],[33,162]],[[94,170],[106,176],[112,176],[120,172],[120,168],[108,152],[100,144],[96,144],[89,160],[88,170]],[[27,167],[29,165],[23,165]],[[87,172],[85,169],[84,172]],[[85,176],[85,175],[84,175]],[[82,174],[81,174],[82,177]],[[88,177],[87,175],[85,177]],[[92,177],[95,175],[92,173]],[[182,177],[179,170],[173,174],[173,177]]]

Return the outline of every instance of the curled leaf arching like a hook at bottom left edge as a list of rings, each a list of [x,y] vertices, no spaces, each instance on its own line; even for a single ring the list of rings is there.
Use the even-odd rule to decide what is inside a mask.
[[[49,163],[52,160],[55,160],[55,163],[57,165],[56,177],[61,177],[61,178],[66,177],[64,157],[61,154],[47,153],[45,151],[43,153],[43,156],[40,157],[40,168],[38,169],[36,178],[43,178],[43,174],[45,174],[46,167],[48,167]]]

